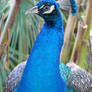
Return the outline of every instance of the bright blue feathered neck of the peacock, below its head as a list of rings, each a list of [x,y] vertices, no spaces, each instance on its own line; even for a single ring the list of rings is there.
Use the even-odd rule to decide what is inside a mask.
[[[60,76],[59,58],[63,45],[62,16],[57,21],[45,22],[39,33],[17,92],[66,92]]]

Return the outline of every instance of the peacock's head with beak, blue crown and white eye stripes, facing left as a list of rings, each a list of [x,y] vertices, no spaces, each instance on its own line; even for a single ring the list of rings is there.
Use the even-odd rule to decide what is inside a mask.
[[[27,10],[26,14],[35,13],[45,21],[56,20],[60,15],[59,4],[55,0],[41,0],[35,7]]]

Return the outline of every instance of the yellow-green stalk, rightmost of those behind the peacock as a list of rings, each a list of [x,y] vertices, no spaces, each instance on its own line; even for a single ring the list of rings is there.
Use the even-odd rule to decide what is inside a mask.
[[[85,31],[85,34],[84,34],[84,40],[89,40],[90,28],[91,28],[91,24],[92,24],[92,0],[88,0],[87,9],[86,9],[85,14],[86,14],[86,16],[85,16],[85,19],[84,19],[84,23],[87,24],[88,27],[87,27],[87,30]],[[82,67],[83,67],[84,63],[86,62],[85,60],[86,60],[86,57],[87,57],[87,50],[88,50],[88,47],[86,46],[86,44],[82,44],[82,49],[81,49],[81,52],[80,52],[80,60],[79,60],[79,63],[78,63]]]

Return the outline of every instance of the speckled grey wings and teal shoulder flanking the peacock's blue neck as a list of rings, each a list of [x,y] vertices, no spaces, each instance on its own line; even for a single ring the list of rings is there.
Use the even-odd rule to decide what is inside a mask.
[[[4,92],[11,92],[17,88],[26,62],[27,61],[22,62],[16,66],[10,73],[6,81]],[[60,74],[66,81],[68,88],[72,88],[74,92],[92,92],[92,75],[78,65],[72,62],[67,65],[60,63]]]

